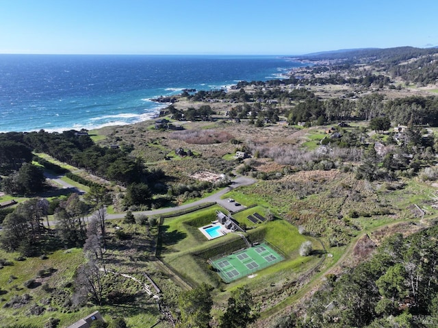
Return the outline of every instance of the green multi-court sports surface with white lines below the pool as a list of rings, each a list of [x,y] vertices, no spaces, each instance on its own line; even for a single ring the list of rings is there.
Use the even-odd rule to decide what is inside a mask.
[[[225,257],[210,260],[210,262],[222,280],[229,283],[284,259],[282,255],[263,242]]]

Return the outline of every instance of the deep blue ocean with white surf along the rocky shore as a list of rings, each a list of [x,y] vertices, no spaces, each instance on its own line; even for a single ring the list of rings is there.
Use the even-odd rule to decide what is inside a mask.
[[[0,55],[0,132],[138,123],[164,107],[153,98],[282,78],[298,66],[280,56]]]

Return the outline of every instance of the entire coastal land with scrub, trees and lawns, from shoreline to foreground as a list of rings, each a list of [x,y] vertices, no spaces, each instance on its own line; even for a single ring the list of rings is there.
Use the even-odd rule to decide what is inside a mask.
[[[427,327],[436,53],[316,53],[136,125],[0,134],[1,322],[228,327],[242,306],[247,327]]]

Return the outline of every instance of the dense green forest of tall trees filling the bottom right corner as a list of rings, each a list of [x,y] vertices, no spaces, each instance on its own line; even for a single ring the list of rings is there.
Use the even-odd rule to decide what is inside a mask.
[[[368,262],[328,275],[304,314],[274,327],[435,327],[438,320],[438,228],[396,234]]]

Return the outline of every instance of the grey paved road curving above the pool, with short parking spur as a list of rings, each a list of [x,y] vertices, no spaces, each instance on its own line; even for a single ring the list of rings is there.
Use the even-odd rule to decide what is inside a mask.
[[[221,199],[220,197],[222,197],[224,194],[226,194],[230,190],[233,190],[235,188],[242,187],[242,186],[250,186],[251,184],[255,184],[256,181],[257,181],[256,179],[253,179],[250,177],[243,177],[243,176],[236,177],[235,179],[231,180],[231,185],[229,187],[224,188],[218,192],[215,192],[214,194],[211,194],[203,199],[199,199],[198,201],[194,201],[193,203],[188,203],[188,204],[179,205],[179,206],[175,206],[175,207],[160,208],[158,210],[134,212],[133,214],[134,215],[144,214],[146,216],[165,214],[165,213],[169,213],[169,212],[185,210],[185,209],[188,209],[190,207],[194,207],[194,206],[205,204],[205,203],[211,203],[211,202],[216,202],[216,203],[222,205],[222,207],[225,207],[228,210],[232,210],[233,212],[235,212],[237,210],[241,210],[243,208],[243,206],[242,205],[235,206],[234,203],[229,203],[227,201],[227,199]],[[106,218],[107,218],[107,220],[111,220],[114,218],[124,218],[125,216],[126,216],[125,213],[107,214]]]

